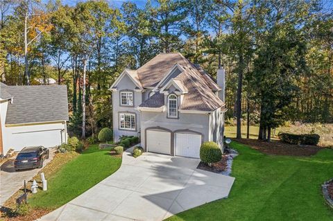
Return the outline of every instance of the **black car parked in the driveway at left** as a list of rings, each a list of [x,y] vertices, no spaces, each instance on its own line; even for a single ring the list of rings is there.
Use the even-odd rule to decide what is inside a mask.
[[[14,161],[15,170],[42,168],[44,159],[49,159],[49,149],[43,146],[23,148]]]

